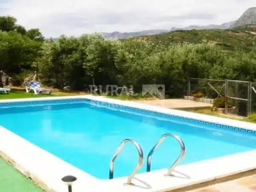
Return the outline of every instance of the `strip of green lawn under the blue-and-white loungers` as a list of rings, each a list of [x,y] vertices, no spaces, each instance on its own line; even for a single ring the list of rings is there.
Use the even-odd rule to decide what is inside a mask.
[[[11,92],[9,94],[6,94],[4,92],[0,92],[0,99],[22,99],[22,98],[37,98],[37,97],[52,97],[52,96],[74,96],[79,95],[81,93],[75,93],[75,92],[53,92],[51,95],[46,93],[39,93],[36,95],[33,92],[26,93],[25,90],[21,89],[11,89]]]

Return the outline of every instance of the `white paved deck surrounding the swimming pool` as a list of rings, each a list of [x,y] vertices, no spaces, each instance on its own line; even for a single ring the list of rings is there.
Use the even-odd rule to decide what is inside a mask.
[[[177,116],[256,130],[256,126],[253,123],[90,95],[36,99],[8,99],[2,100],[0,103],[74,98],[87,98],[96,101],[98,100],[135,108],[143,108],[161,113],[175,114]],[[185,145],[189,144],[185,143]],[[66,184],[61,181],[61,178],[66,175],[73,175],[78,178],[78,180],[73,183],[73,192],[164,192],[183,186],[189,186],[194,183],[201,183],[203,181],[256,169],[256,150],[253,150],[205,160],[198,163],[177,166],[173,177],[164,176],[167,172],[166,169],[137,174],[132,180],[134,186],[126,186],[123,185],[123,183],[126,182],[127,177],[114,178],[112,180],[97,179],[1,126],[0,152],[10,157],[14,161],[14,166],[25,175],[31,177],[36,183],[40,180],[39,183],[41,183],[41,186],[43,186],[44,189],[55,192],[67,192]],[[169,154],[171,154],[171,151],[166,153],[166,155]],[[146,163],[146,157],[144,157],[144,163]],[[170,162],[170,165],[171,164],[172,162]],[[45,185],[42,185],[42,183]]]

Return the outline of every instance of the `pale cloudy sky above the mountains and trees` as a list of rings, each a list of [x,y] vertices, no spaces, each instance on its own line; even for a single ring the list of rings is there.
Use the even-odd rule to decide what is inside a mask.
[[[255,6],[256,0],[0,0],[0,15],[58,37],[221,24]]]

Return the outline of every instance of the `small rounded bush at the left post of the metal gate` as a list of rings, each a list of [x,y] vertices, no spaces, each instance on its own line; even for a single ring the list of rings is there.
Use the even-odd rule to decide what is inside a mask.
[[[233,106],[233,102],[230,98],[223,96],[223,97],[219,97],[217,99],[214,99],[213,102],[213,109],[215,111],[218,111],[220,113],[225,113],[226,110],[226,100],[227,100],[227,110],[228,113],[234,113],[235,111],[235,107]]]

